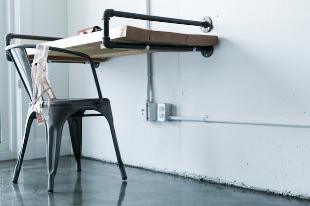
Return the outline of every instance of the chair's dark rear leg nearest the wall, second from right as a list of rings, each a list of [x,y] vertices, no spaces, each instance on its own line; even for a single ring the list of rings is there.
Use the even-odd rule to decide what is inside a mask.
[[[69,117],[68,118],[72,150],[73,150],[74,158],[76,161],[77,171],[81,171],[82,118],[83,117]]]

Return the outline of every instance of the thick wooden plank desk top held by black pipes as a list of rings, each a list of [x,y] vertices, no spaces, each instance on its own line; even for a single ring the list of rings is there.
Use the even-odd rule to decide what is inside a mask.
[[[98,31],[61,40],[49,41],[46,42],[46,44],[88,54],[94,59],[94,61],[98,62],[104,61],[104,58],[108,57],[160,52],[137,49],[108,49],[103,46],[102,37],[103,31]],[[159,32],[131,26],[122,26],[109,29],[109,37],[111,41],[126,43],[150,43],[188,46],[210,46],[216,45],[218,43],[217,36]],[[34,51],[28,51],[28,54],[31,56],[31,54],[34,54]],[[67,54],[59,55],[59,53],[54,51],[50,51],[49,53],[50,60],[61,61],[62,58],[66,59],[68,57],[70,56]]]

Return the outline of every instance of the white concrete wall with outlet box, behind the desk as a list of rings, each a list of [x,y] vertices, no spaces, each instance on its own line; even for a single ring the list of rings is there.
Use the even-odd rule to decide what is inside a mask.
[[[145,0],[67,0],[68,35],[102,26],[106,8],[148,10]],[[154,101],[172,103],[173,116],[309,122],[309,9],[307,0],[151,0],[152,15],[210,16],[214,28],[208,34],[220,41],[209,58],[199,52],[153,54]],[[146,28],[140,20],[111,18],[111,27],[122,25]],[[203,34],[199,27],[165,23],[151,29]],[[146,55],[111,58],[98,68],[125,164],[309,197],[309,128],[140,122],[146,69]],[[87,73],[70,66],[69,78],[70,96],[95,94]],[[106,123],[85,119],[83,129],[83,155],[116,162]]]

